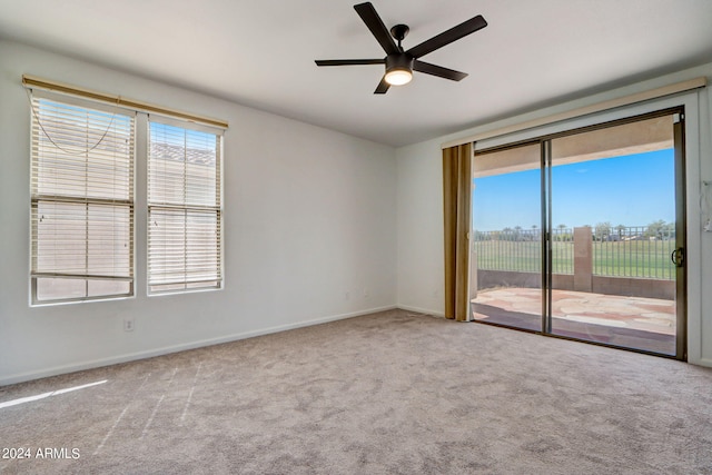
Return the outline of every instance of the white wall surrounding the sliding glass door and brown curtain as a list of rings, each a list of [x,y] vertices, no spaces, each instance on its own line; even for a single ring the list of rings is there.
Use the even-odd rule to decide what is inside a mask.
[[[712,82],[712,63],[397,149],[398,307],[434,315],[444,313],[441,144],[702,76]],[[712,366],[712,232],[702,231],[701,224],[710,217],[710,209],[700,208],[700,188],[704,189],[701,182],[712,181],[712,93],[709,88],[699,92],[695,106],[699,106],[699,117],[694,118],[699,129],[686,137],[689,360]],[[708,192],[712,200],[712,187]]]

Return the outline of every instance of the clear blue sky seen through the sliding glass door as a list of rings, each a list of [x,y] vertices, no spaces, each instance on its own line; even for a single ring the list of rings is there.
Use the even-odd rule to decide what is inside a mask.
[[[540,170],[475,179],[474,228],[541,227]],[[645,226],[675,219],[672,149],[552,168],[552,224]]]

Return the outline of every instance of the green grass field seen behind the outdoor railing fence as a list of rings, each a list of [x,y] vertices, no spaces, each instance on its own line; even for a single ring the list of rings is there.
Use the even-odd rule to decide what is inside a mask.
[[[610,277],[674,279],[670,255],[671,240],[631,240],[593,243],[593,274]],[[477,268],[486,270],[541,271],[542,245],[538,241],[479,240],[474,243]],[[554,274],[573,274],[574,244],[552,243]]]

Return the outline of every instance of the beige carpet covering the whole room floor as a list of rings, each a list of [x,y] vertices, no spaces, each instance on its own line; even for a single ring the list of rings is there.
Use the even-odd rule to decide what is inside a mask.
[[[712,474],[712,370],[393,310],[1,387],[0,449],[3,475]]]

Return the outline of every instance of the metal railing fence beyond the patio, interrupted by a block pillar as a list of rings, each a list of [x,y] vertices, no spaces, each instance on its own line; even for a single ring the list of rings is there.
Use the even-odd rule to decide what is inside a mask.
[[[593,274],[604,277],[651,279],[675,278],[670,255],[675,249],[671,226],[633,226],[592,229]],[[477,268],[540,273],[542,269],[542,231],[506,228],[474,231],[473,250]],[[550,245],[553,274],[574,273],[574,232],[571,228],[552,230]]]

